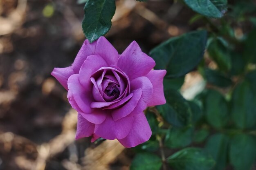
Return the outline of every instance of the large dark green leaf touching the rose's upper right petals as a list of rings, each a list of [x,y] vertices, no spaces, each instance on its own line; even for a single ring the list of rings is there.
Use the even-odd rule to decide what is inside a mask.
[[[180,77],[199,64],[206,40],[206,31],[193,31],[163,42],[150,51],[150,56],[156,69],[166,69],[166,77]]]

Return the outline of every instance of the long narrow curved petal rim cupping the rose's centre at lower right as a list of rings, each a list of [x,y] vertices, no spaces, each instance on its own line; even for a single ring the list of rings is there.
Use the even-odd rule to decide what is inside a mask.
[[[133,93],[133,96],[129,100],[129,102],[124,104],[124,106],[112,111],[111,115],[115,121],[129,115],[132,112],[132,110],[134,110],[135,107],[137,106],[139,99],[141,98],[141,89],[137,89],[137,90],[133,91],[132,93]]]

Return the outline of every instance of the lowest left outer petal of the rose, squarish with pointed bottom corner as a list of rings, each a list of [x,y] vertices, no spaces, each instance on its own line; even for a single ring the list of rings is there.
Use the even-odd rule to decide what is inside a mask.
[[[94,134],[95,124],[87,121],[81,114],[77,115],[76,139],[89,137]]]

